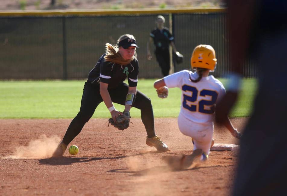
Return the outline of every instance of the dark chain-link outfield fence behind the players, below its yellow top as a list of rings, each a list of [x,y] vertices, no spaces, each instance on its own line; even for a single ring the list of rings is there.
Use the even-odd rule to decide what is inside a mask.
[[[185,11],[184,13],[65,14],[31,16],[0,15],[0,79],[83,79],[105,52],[105,44],[116,44],[123,34],[132,34],[139,45],[139,78],[160,78],[156,62],[146,58],[149,33],[158,14],[165,17],[175,37],[183,63],[174,71],[190,69],[193,48],[199,44],[214,47],[218,66],[213,73],[229,72],[228,35],[224,11]],[[154,50],[155,47],[151,47]],[[244,77],[256,77],[250,60],[243,67]]]

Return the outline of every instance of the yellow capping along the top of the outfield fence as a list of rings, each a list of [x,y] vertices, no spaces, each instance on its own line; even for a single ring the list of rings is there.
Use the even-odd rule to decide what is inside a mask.
[[[2,11],[0,16],[47,16],[47,15],[139,15],[139,14],[181,14],[225,12],[225,8],[190,9],[123,9],[123,10],[42,10],[42,11]]]

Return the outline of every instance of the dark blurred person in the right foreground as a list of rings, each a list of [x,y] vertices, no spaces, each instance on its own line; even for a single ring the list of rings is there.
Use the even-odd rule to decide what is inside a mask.
[[[215,109],[219,124],[238,98],[245,58],[258,66],[258,89],[240,141],[232,194],[286,195],[287,1],[228,0],[227,6],[232,73]]]

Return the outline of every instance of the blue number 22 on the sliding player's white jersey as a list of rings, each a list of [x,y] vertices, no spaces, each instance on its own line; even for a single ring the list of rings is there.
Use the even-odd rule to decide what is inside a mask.
[[[191,112],[196,112],[198,108],[198,112],[204,113],[204,114],[213,114],[214,109],[215,109],[215,102],[217,100],[218,93],[213,90],[206,90],[203,89],[198,93],[198,90],[196,87],[193,86],[188,86],[188,85],[183,85],[182,90],[187,92],[190,91],[192,94],[191,96],[187,96],[183,94],[183,101],[182,101],[182,106],[185,109],[188,109]],[[211,100],[200,100],[198,102],[198,105],[187,105],[187,101],[189,102],[195,102],[199,97],[206,97],[206,96],[211,96]],[[205,109],[205,106],[209,106],[209,109]]]

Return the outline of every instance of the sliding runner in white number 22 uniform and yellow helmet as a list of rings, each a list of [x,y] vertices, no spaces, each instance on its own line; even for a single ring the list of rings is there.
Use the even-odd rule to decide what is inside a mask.
[[[216,68],[215,51],[210,45],[198,45],[191,57],[191,68],[196,72],[183,70],[155,82],[158,96],[166,98],[168,88],[178,87],[182,90],[178,127],[184,135],[192,137],[194,148],[189,156],[166,157],[171,167],[182,169],[189,167],[195,158],[208,159],[209,150],[214,140],[213,121],[215,104],[225,95],[222,83],[209,76]],[[228,118],[228,117],[227,117]],[[228,119],[225,127],[233,136],[242,137]]]

